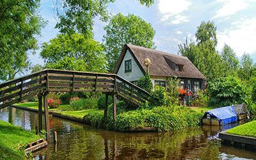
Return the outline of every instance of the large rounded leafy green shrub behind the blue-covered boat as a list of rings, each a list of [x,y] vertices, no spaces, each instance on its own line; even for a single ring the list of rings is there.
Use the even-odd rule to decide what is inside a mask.
[[[242,104],[246,98],[245,86],[236,77],[223,77],[208,85],[209,104],[223,107],[232,104]]]

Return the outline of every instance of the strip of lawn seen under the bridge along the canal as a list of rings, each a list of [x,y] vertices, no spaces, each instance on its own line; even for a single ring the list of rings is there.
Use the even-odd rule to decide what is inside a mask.
[[[76,117],[76,118],[83,118],[88,113],[96,113],[96,112],[103,112],[103,110],[100,110],[100,109],[86,109],[86,110],[83,110],[83,111],[57,111],[57,113],[60,113],[61,115]]]

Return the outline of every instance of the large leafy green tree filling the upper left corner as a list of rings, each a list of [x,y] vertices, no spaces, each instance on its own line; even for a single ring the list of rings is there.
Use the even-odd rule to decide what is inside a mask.
[[[0,79],[10,80],[28,68],[28,51],[37,49],[35,36],[45,22],[37,13],[39,0],[0,1]]]

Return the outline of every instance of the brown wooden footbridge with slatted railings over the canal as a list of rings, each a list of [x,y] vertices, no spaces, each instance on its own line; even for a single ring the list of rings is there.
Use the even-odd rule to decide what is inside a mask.
[[[0,84],[0,109],[38,95],[39,131],[42,131],[44,101],[45,130],[49,140],[47,94],[50,92],[102,92],[106,94],[104,120],[108,115],[108,96],[113,96],[113,118],[116,119],[116,97],[134,105],[144,103],[150,95],[116,74],[46,69]],[[43,100],[44,99],[44,100]]]

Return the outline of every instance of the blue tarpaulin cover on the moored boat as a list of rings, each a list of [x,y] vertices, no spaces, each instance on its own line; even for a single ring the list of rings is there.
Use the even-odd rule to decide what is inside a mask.
[[[211,109],[205,112],[204,117],[206,117],[207,114],[211,115],[211,118],[217,118],[219,123],[222,125],[237,122],[237,115],[234,105],[224,108]]]

